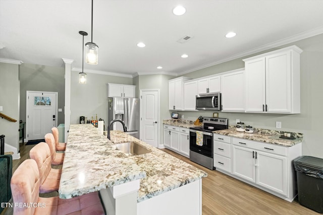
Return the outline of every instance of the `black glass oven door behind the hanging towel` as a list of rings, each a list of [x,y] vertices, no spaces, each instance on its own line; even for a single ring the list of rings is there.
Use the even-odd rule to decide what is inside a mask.
[[[196,145],[196,130],[190,130],[190,150],[213,158],[213,133],[203,132],[203,146]]]

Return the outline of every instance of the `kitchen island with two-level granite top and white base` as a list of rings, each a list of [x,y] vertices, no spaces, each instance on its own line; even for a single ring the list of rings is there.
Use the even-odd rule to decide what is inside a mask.
[[[124,132],[111,131],[111,140],[91,124],[70,126],[61,198],[100,191],[108,214],[201,214],[204,171]],[[127,156],[115,146],[130,141],[150,153]]]

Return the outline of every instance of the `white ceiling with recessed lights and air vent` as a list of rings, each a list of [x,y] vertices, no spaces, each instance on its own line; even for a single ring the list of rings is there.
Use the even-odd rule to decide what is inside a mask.
[[[175,16],[177,5],[186,14]],[[185,74],[323,33],[323,1],[94,0],[97,65],[85,71]],[[91,40],[91,0],[0,0],[0,58],[82,68],[82,36]],[[236,37],[226,38],[229,31]],[[177,40],[189,35],[186,43]],[[144,42],[146,47],[137,47]],[[181,58],[186,53],[188,58]],[[157,66],[163,69],[157,69]]]

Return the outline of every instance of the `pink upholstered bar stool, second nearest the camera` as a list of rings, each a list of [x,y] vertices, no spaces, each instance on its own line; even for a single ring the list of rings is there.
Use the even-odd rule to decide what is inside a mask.
[[[36,161],[38,166],[40,178],[39,192],[49,193],[58,191],[62,170],[51,168],[50,151],[47,144],[45,144],[45,142],[40,142],[30,150],[29,156]]]

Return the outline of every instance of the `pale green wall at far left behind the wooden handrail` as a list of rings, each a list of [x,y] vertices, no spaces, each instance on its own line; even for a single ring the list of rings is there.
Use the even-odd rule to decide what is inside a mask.
[[[17,151],[19,151],[19,89],[19,65],[0,62],[0,106],[3,106],[0,112],[17,120],[11,122],[0,117],[0,135],[4,134],[6,144],[17,148]]]

